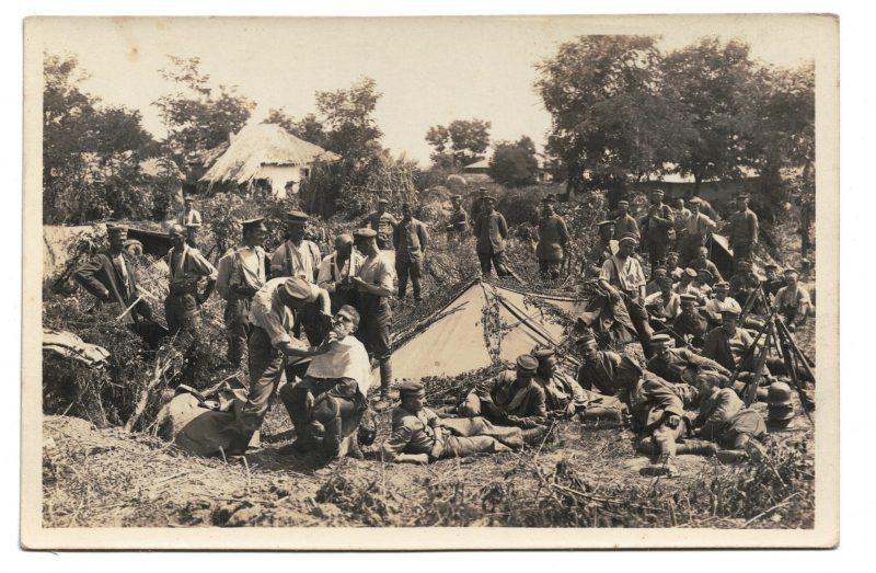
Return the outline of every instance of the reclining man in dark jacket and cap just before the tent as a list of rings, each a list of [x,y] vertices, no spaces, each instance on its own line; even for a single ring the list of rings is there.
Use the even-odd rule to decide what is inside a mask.
[[[534,428],[544,424],[548,411],[544,389],[534,380],[539,362],[529,354],[517,358],[517,369],[477,385],[457,408],[464,417],[483,415],[502,425]]]

